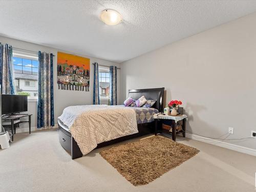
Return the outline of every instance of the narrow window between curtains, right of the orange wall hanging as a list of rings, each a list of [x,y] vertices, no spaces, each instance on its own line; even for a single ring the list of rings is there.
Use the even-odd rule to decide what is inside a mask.
[[[99,68],[99,99],[108,100],[110,90],[110,71],[109,69]]]

